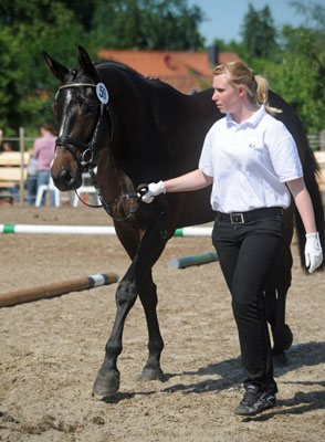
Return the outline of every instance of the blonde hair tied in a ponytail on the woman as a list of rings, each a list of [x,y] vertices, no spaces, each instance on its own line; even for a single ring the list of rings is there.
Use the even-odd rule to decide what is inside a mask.
[[[229,83],[234,87],[244,87],[248,98],[256,105],[264,105],[269,114],[279,114],[282,110],[269,106],[269,83],[261,75],[254,75],[253,71],[243,62],[230,62],[214,67],[213,75],[228,74]]]

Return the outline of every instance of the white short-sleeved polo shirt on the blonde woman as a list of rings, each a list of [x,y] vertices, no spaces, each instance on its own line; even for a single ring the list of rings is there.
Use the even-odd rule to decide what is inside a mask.
[[[285,182],[303,177],[294,139],[264,106],[242,124],[231,114],[216,122],[206,136],[199,169],[213,177],[211,206],[223,213],[287,208]]]

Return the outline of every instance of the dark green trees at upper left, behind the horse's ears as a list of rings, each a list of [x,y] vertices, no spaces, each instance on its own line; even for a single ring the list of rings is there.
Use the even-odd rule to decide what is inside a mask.
[[[202,18],[187,0],[1,0],[0,127],[12,135],[52,117],[57,82],[43,50],[71,66],[78,44],[93,59],[105,46],[197,50]]]

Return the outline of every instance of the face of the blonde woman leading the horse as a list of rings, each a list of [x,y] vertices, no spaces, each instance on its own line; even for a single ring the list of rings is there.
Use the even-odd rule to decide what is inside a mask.
[[[218,109],[222,113],[233,113],[239,106],[240,88],[228,82],[228,74],[213,76],[214,93],[212,99]]]

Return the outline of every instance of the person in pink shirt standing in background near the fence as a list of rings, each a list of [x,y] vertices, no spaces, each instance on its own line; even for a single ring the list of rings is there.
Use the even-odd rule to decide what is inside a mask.
[[[50,169],[51,162],[54,159],[55,140],[56,137],[53,134],[54,128],[51,123],[43,123],[41,126],[40,138],[34,141],[33,157],[36,158],[38,167],[38,189],[42,185],[49,185],[50,181]],[[43,193],[41,206],[45,204],[45,192]],[[51,206],[55,206],[54,192],[51,191]]]

